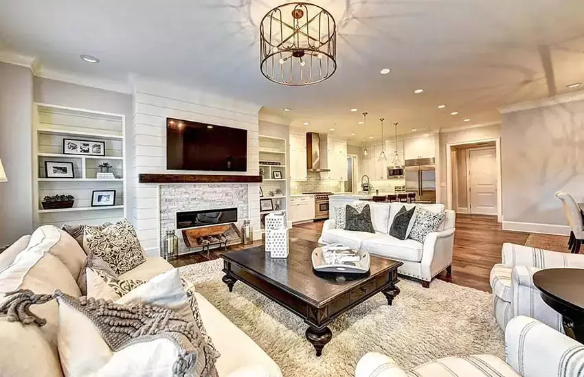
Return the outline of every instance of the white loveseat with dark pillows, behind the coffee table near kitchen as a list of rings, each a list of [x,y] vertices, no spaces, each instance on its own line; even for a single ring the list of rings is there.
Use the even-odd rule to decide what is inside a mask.
[[[324,222],[318,242],[322,244],[339,242],[353,249],[366,250],[372,255],[403,262],[398,273],[419,279],[426,288],[431,279],[442,271],[447,270],[451,273],[456,220],[454,211],[447,210],[446,218],[438,231],[429,233],[424,243],[421,243],[409,238],[399,240],[390,236],[388,233],[393,218],[403,205],[407,209],[419,205],[431,212],[442,211],[445,209],[444,205],[374,202],[368,204],[375,233],[337,229],[335,219],[330,218]]]

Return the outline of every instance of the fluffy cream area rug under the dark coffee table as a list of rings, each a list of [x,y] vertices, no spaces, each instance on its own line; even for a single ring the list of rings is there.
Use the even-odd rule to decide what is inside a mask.
[[[379,293],[341,315],[328,325],[333,339],[317,358],[299,317],[242,282],[229,293],[221,282],[222,267],[223,260],[213,260],[180,271],[265,350],[284,377],[355,376],[359,358],[372,351],[391,356],[405,368],[444,356],[505,358],[504,334],[491,314],[491,295],[438,279],[430,288],[402,279],[393,306]]]

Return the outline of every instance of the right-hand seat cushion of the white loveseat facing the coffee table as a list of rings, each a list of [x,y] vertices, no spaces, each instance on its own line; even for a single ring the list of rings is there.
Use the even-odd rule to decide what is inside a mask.
[[[389,234],[377,233],[374,237],[363,240],[361,249],[385,258],[420,262],[424,245],[409,238],[399,240]]]

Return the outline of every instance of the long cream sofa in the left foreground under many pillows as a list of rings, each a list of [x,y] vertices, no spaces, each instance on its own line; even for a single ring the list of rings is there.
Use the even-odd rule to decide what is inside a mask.
[[[47,248],[34,256],[32,246],[39,242],[47,244]],[[85,253],[69,234],[53,226],[40,227],[32,236],[23,236],[0,254],[0,302],[4,293],[14,288],[35,293],[53,293],[59,289],[79,297],[76,281],[84,261]],[[162,258],[148,257],[120,278],[148,280],[172,268]],[[203,325],[221,353],[216,361],[219,376],[282,376],[278,365],[249,336],[205,297],[195,295]],[[49,302],[32,307],[32,311],[47,319],[47,324],[38,328],[0,317],[0,375],[62,377],[56,339],[58,307],[55,302]]]

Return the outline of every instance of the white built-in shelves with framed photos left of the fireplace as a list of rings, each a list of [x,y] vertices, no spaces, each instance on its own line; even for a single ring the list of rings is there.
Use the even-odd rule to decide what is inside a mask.
[[[53,104],[34,104],[33,180],[35,226],[52,224],[102,224],[126,217],[125,117]],[[104,142],[104,156],[69,155],[64,139]],[[73,164],[74,178],[48,178],[45,161]],[[98,179],[101,163],[109,163],[115,178]],[[92,207],[93,191],[115,190],[115,203]],[[45,196],[72,195],[71,208],[43,209]]]

